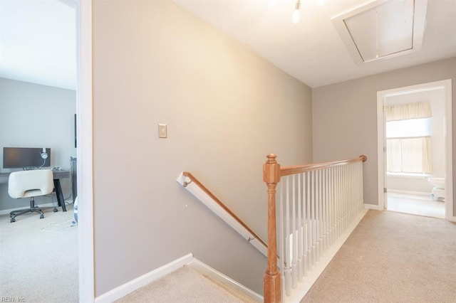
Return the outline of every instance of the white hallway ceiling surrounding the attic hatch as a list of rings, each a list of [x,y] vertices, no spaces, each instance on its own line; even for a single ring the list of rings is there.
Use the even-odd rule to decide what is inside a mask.
[[[326,0],[320,6],[301,0],[297,24],[291,23],[296,0],[277,0],[271,7],[271,0],[173,1],[311,87],[456,56],[456,0],[427,1],[420,51],[362,64],[353,60],[331,18],[373,1]]]

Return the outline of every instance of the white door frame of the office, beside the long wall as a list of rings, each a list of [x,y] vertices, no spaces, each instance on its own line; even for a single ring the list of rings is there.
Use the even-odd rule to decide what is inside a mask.
[[[95,301],[92,164],[92,0],[76,0],[79,302]]]

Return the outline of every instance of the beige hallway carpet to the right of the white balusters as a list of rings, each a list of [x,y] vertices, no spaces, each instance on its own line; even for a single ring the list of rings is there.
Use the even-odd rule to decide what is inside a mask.
[[[456,225],[368,211],[301,302],[456,302]]]

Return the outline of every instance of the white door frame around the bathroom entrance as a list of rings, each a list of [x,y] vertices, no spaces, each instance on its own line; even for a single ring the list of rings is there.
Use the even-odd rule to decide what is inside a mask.
[[[407,87],[398,87],[392,90],[381,90],[377,92],[377,134],[378,134],[378,209],[385,209],[385,151],[384,151],[384,117],[383,104],[385,98],[397,95],[405,95],[410,92],[420,90],[436,90],[443,89],[445,92],[445,218],[456,222],[456,217],[453,216],[453,172],[452,172],[452,80],[441,80],[431,83],[423,83],[420,85],[412,85]]]

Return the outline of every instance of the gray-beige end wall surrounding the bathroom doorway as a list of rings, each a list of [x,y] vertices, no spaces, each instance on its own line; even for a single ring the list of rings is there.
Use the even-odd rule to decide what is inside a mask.
[[[456,134],[456,58],[314,88],[314,161],[366,154],[364,201],[378,205],[377,92],[446,79],[452,79],[453,134]],[[453,142],[453,150],[456,150],[456,142]],[[453,209],[456,211],[456,207]]]

